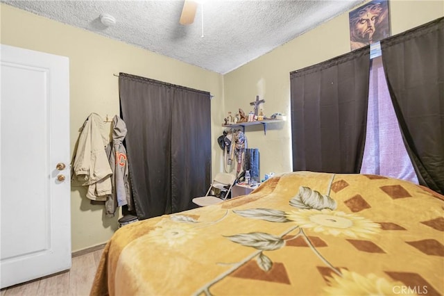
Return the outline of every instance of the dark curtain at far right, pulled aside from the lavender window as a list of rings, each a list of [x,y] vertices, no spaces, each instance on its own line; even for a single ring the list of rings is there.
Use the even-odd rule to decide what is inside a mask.
[[[382,40],[381,50],[418,181],[444,194],[444,17]]]

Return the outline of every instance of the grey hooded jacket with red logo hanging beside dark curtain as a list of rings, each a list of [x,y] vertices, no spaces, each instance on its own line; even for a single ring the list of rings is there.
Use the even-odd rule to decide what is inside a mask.
[[[112,142],[106,151],[112,170],[111,184],[112,194],[105,202],[106,217],[113,217],[116,208],[128,205],[128,210],[133,210],[133,199],[128,170],[128,158],[123,140],[126,136],[126,124],[117,115],[112,119]]]

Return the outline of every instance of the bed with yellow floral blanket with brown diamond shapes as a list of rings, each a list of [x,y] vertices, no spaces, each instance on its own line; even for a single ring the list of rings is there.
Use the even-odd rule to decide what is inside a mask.
[[[91,295],[443,295],[444,197],[291,172],[250,195],[128,224]]]

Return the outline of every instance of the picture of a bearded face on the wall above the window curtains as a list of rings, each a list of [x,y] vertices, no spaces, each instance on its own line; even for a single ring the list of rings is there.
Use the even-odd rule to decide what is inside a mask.
[[[350,11],[350,49],[355,50],[390,36],[388,0],[370,1]]]

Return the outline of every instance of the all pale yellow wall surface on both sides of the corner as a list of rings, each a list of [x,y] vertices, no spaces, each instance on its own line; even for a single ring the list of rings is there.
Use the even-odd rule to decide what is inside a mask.
[[[289,72],[350,50],[348,14],[344,14],[222,76],[3,3],[0,9],[2,44],[69,57],[71,150],[89,113],[119,114],[117,77],[112,74],[126,72],[214,94],[213,174],[223,170],[216,138],[223,131],[221,124],[228,111],[243,108],[248,112],[249,102],[259,94],[266,99],[266,115],[289,115]],[[392,0],[390,9],[393,34],[444,15],[443,1]],[[248,146],[260,149],[262,176],[291,170],[289,117],[283,124],[270,124],[266,135],[262,127],[248,127],[246,135]],[[73,251],[106,242],[117,229],[117,217],[103,217],[103,208],[89,205],[85,191],[78,188],[71,190],[71,221]]]

